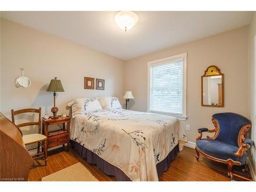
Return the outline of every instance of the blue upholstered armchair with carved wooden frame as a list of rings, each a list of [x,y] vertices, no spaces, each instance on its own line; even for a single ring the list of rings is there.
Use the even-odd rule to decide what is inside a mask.
[[[212,115],[211,120],[214,130],[198,129],[196,158],[198,160],[201,153],[211,160],[227,164],[227,174],[233,180],[233,165],[246,164],[247,149],[253,144],[251,139],[246,139],[246,133],[251,129],[251,121],[236,113],[218,113]],[[215,134],[202,139],[203,132]]]

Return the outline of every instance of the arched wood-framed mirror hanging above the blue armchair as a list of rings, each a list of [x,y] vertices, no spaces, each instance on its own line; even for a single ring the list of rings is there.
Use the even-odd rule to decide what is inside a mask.
[[[201,76],[201,105],[224,106],[224,74],[217,66],[209,66]]]

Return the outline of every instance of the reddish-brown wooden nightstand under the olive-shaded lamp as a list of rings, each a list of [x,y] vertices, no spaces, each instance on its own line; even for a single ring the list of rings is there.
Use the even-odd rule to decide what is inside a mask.
[[[69,142],[69,135],[70,135],[70,119],[71,117],[61,117],[60,115],[58,118],[53,119],[50,117],[49,119],[44,119],[42,118],[42,133],[47,136],[47,149],[58,146],[58,145],[65,145],[68,143],[68,151],[70,147],[70,142]],[[62,123],[62,129],[56,130],[56,131],[51,131],[48,132],[48,126],[53,125],[53,124],[59,124]],[[67,128],[65,124],[67,123]]]

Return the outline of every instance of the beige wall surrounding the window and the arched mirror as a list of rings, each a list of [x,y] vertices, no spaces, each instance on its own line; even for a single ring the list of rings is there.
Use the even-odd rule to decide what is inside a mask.
[[[248,27],[210,36],[185,45],[165,49],[125,61],[125,90],[135,99],[132,110],[147,111],[147,62],[187,52],[188,140],[195,142],[199,127],[214,127],[211,116],[234,112],[248,117]],[[201,106],[201,75],[206,67],[216,65],[224,73],[225,107]]]

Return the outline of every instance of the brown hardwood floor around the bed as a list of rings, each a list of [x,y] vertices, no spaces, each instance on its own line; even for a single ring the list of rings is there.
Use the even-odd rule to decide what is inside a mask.
[[[66,150],[66,149],[65,149]],[[53,174],[58,170],[81,162],[99,181],[116,181],[115,177],[103,174],[95,165],[82,159],[72,148],[67,152],[63,147],[49,151],[48,165],[43,160],[34,160],[29,173],[29,181],[41,181],[42,177]],[[164,172],[159,181],[229,181],[226,165],[206,159],[200,155],[199,161],[195,158],[193,148],[184,147],[172,161],[169,169]],[[235,166],[234,173],[250,178],[249,172],[242,172],[242,167]],[[234,177],[234,180],[242,179]]]

